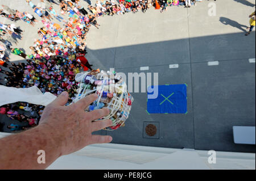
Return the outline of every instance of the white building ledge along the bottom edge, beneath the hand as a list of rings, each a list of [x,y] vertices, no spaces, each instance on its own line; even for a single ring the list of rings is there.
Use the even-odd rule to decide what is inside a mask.
[[[10,133],[0,132],[0,138]],[[47,169],[253,169],[254,153],[216,151],[216,163],[208,163],[208,151],[122,144],[95,144],[58,158]]]

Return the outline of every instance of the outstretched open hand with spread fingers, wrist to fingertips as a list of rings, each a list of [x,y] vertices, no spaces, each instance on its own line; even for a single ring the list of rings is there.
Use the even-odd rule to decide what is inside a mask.
[[[92,135],[92,132],[112,126],[111,120],[94,121],[109,114],[108,108],[85,112],[85,108],[97,99],[96,94],[88,95],[75,104],[64,106],[68,92],[62,92],[44,108],[40,125],[47,128],[60,155],[73,153],[90,144],[108,143],[111,136]]]

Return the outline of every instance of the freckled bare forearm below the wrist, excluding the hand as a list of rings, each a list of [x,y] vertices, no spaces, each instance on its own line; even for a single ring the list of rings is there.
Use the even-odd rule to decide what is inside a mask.
[[[60,148],[47,127],[38,126],[0,140],[0,169],[45,169],[60,157]],[[46,151],[46,163],[38,163],[38,150]]]

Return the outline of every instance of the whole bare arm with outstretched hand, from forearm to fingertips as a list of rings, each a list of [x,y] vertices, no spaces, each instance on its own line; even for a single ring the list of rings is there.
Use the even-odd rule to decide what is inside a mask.
[[[45,169],[61,155],[112,141],[110,136],[92,135],[112,126],[111,120],[93,122],[108,115],[108,109],[84,111],[96,99],[92,94],[64,106],[68,93],[63,92],[46,106],[37,127],[0,139],[0,169]],[[45,151],[46,163],[38,163],[39,150]]]

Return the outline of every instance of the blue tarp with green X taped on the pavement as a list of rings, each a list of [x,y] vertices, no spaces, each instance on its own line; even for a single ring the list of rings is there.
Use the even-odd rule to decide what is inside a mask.
[[[151,86],[154,89],[153,86]],[[147,94],[153,94],[147,92]],[[158,86],[158,97],[147,99],[148,113],[187,113],[187,85]]]

